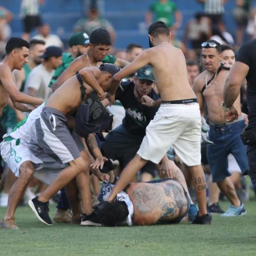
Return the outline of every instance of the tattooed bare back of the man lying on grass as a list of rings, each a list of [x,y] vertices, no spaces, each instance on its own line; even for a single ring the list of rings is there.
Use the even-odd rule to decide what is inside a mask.
[[[188,202],[183,187],[174,180],[158,183],[131,183],[126,188],[133,207],[135,225],[152,225],[183,217]]]

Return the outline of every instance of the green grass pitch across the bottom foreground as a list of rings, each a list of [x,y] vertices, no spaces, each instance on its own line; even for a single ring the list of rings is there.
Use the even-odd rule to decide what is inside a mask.
[[[256,202],[247,215],[213,216],[212,225],[94,228],[45,226],[28,207],[16,211],[18,230],[0,229],[0,255],[256,255]],[[226,209],[228,203],[221,203]],[[51,216],[55,207],[51,207]],[[5,208],[0,208],[1,217]]]

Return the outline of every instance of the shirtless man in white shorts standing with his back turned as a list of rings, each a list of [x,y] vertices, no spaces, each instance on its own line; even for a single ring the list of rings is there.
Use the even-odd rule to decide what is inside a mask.
[[[115,92],[123,77],[150,64],[162,104],[147,126],[146,136],[137,155],[122,171],[107,200],[113,201],[148,160],[158,164],[169,148],[174,146],[176,154],[191,172],[199,202],[199,214],[193,223],[210,224],[211,217],[206,208],[205,178],[201,167],[200,109],[188,82],[185,57],[180,49],[169,43],[170,31],[163,22],[152,23],[148,34],[151,48],[144,50],[131,64],[114,75],[109,100],[113,104]]]

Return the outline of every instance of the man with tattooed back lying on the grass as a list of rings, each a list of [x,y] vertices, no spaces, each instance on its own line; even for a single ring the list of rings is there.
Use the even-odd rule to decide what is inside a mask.
[[[96,205],[96,215],[104,226],[118,226],[123,221],[128,225],[178,223],[187,214],[195,218],[197,209],[191,208],[187,186],[181,184],[185,184],[185,179],[180,170],[176,171],[174,179],[130,183],[112,203],[104,201]],[[103,186],[103,199],[106,199],[114,185]]]

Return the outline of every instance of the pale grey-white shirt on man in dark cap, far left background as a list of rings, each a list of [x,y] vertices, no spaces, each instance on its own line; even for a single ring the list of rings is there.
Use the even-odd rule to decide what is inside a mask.
[[[51,81],[54,71],[55,69],[47,71],[43,63],[32,69],[27,77],[24,89],[25,93],[27,93],[28,88],[33,88],[36,90],[35,97],[46,100],[49,92],[51,91],[48,84]]]

